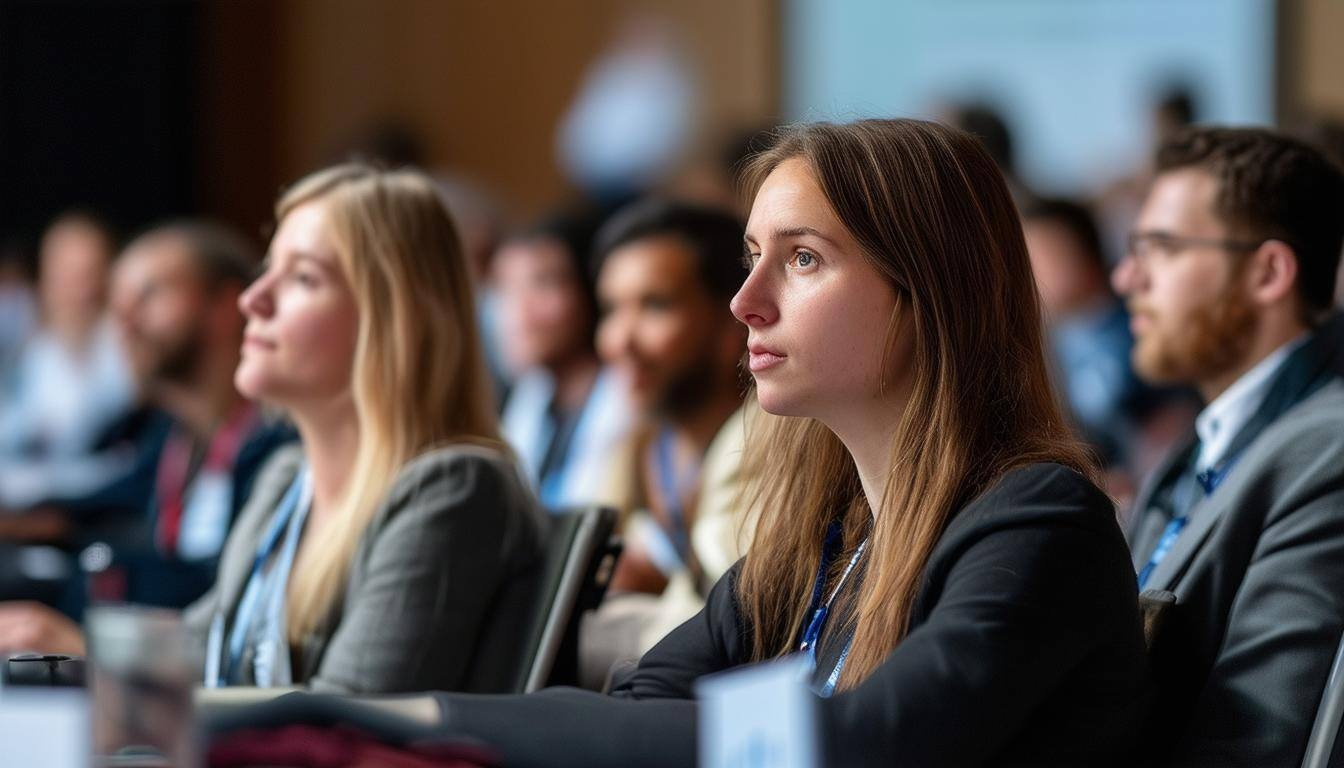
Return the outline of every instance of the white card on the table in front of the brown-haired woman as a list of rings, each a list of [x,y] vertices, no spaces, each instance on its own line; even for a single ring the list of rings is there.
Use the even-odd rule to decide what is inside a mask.
[[[754,664],[696,682],[700,765],[816,768],[817,697],[801,656]]]

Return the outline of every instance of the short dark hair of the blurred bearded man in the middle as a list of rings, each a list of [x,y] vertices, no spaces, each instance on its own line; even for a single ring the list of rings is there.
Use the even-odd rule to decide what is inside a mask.
[[[661,198],[649,198],[617,211],[598,230],[593,274],[613,250],[637,239],[672,235],[695,256],[700,282],[711,296],[732,299],[747,277],[742,264],[742,221],[724,210]]]

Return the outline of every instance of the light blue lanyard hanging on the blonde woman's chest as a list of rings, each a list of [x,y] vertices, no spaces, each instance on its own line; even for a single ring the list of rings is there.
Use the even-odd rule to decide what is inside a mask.
[[[242,664],[242,658],[247,647],[251,625],[257,621],[259,612],[269,609],[273,613],[273,620],[282,615],[285,604],[284,590],[289,582],[289,572],[293,568],[294,554],[298,549],[298,539],[302,534],[304,522],[308,519],[308,510],[310,507],[312,488],[308,479],[308,469],[302,468],[294,477],[294,482],[289,486],[289,490],[281,499],[280,506],[276,507],[276,515],[271,518],[270,527],[266,530],[266,535],[262,537],[261,543],[257,546],[257,557],[253,560],[251,577],[249,577],[243,599],[238,604],[238,615],[228,636],[228,658],[224,668],[220,670],[218,675],[216,685],[228,685],[230,678],[238,674],[238,667]],[[273,584],[273,588],[278,590],[278,593],[262,594],[266,562],[273,554],[276,554],[276,547],[280,546],[281,537],[284,537],[284,549],[280,553],[280,560],[274,564],[278,578],[276,578]],[[265,639],[262,639],[262,642],[265,642]]]

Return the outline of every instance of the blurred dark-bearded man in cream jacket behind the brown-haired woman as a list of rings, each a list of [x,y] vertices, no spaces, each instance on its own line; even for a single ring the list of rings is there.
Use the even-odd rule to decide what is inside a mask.
[[[644,631],[660,611],[650,596],[669,580],[706,586],[692,546],[702,463],[742,405],[738,363],[746,347],[728,309],[746,277],[735,215],[657,199],[634,203],[602,227],[595,254],[598,351],[620,374],[641,422],[612,475],[612,498],[625,511],[625,553],[613,597],[581,635],[589,685],[644,650]]]

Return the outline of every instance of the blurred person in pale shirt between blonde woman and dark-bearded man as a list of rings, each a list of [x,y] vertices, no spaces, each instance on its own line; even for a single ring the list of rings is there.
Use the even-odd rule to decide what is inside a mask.
[[[602,500],[630,413],[594,347],[597,297],[587,269],[594,213],[555,214],[495,257],[504,351],[517,379],[501,429],[547,510]]]

